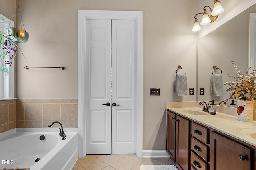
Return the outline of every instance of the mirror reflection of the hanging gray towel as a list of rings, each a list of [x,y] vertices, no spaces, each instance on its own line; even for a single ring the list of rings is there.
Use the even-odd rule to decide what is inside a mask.
[[[213,96],[223,95],[222,74],[212,74],[211,93],[213,93]]]

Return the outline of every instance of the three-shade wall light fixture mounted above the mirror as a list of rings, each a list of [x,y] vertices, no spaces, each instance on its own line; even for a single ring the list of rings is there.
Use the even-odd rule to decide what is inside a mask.
[[[210,16],[208,15],[207,13],[207,10],[206,10],[206,7],[210,8]],[[202,21],[200,22],[201,25],[206,25],[210,22],[214,22],[217,20],[219,14],[221,14],[222,12],[224,11],[224,8],[221,6],[220,4],[220,1],[218,0],[214,0],[214,5],[213,5],[213,10],[210,6],[205,6],[204,7],[204,12],[200,12],[198,14],[195,15],[195,22],[194,22],[194,26],[193,26],[193,29],[192,31],[193,32],[196,32],[196,31],[200,31],[201,27],[198,23],[198,20],[197,20],[197,15],[199,14],[203,14],[202,16]]]

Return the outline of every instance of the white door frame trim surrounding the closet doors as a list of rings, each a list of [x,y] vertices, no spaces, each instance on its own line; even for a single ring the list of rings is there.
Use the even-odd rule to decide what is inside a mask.
[[[86,103],[89,74],[86,72],[86,20],[136,20],[136,154],[142,157],[143,142],[143,22],[142,11],[78,10],[78,156],[86,156]]]

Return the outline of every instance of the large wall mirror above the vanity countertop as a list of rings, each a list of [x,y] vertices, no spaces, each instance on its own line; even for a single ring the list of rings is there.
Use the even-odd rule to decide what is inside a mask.
[[[222,70],[223,83],[234,80],[228,76],[235,75],[231,61],[236,62],[241,72],[246,72],[249,61],[250,13],[256,13],[256,4],[198,40],[197,101],[222,101],[229,97],[226,92],[228,85],[223,85],[222,96],[210,93],[212,72],[220,73],[219,69],[216,70],[212,66],[215,65]],[[204,95],[199,94],[200,88],[204,88]],[[225,106],[230,106],[230,103],[231,100],[228,100]]]

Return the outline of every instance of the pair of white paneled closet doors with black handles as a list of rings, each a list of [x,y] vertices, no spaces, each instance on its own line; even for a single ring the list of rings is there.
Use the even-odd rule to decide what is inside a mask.
[[[136,20],[86,20],[86,154],[136,153]]]

